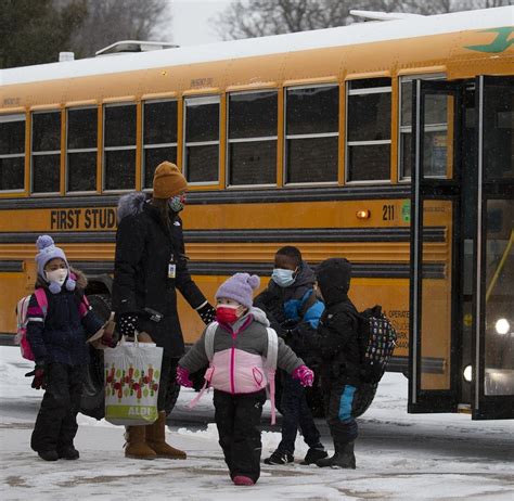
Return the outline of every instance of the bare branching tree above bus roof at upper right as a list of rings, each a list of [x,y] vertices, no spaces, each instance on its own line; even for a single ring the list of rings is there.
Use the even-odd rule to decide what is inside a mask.
[[[237,0],[215,16],[211,24],[228,40],[363,21],[351,16],[350,9],[432,15],[511,3],[512,0]]]

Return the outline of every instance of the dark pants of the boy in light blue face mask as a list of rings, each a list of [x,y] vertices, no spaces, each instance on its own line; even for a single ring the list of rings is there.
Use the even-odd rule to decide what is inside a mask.
[[[282,440],[277,448],[283,453],[294,454],[298,426],[309,447],[320,444],[320,432],[316,427],[312,412],[307,403],[305,389],[297,380],[283,373],[282,377]]]

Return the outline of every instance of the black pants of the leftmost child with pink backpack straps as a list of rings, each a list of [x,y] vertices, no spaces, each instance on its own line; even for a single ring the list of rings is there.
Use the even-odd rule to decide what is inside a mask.
[[[47,390],[41,401],[30,447],[37,452],[73,446],[77,434],[77,412],[82,395],[85,365],[49,363]]]

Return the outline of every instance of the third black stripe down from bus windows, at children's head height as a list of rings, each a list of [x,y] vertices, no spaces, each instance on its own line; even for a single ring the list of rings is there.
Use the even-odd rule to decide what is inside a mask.
[[[110,274],[114,272],[114,261],[74,261],[73,265],[88,275]],[[316,270],[316,265],[311,265]],[[237,272],[270,277],[273,270],[272,262],[216,262],[216,261],[190,261],[189,271],[193,275],[201,277],[230,277]],[[352,277],[369,279],[407,279],[410,277],[409,262],[355,262],[351,266]],[[438,262],[424,266],[424,278],[444,279],[445,265]]]

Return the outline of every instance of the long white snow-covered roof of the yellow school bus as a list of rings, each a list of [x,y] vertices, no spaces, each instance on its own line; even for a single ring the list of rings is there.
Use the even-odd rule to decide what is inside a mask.
[[[356,23],[336,28],[165,49],[150,53],[128,53],[115,57],[91,57],[1,69],[0,85],[59,80],[455,31],[484,30],[510,26],[513,18],[514,7],[503,7],[397,21]]]

